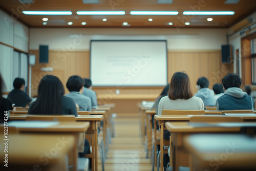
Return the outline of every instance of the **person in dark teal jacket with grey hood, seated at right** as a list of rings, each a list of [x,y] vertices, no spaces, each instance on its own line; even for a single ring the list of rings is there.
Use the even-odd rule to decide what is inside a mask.
[[[222,79],[224,95],[217,99],[217,110],[253,110],[254,99],[240,89],[242,79],[237,74],[228,74]]]

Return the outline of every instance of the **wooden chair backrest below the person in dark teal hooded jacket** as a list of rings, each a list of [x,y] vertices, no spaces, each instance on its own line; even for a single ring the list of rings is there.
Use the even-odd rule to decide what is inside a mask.
[[[236,116],[191,116],[189,122],[243,122],[243,119]]]

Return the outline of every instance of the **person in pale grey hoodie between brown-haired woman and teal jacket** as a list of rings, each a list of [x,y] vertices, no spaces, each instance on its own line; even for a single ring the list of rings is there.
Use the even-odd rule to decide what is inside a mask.
[[[215,105],[216,99],[214,97],[214,91],[209,89],[209,80],[205,77],[201,77],[197,80],[198,92],[195,94],[203,100],[204,105]]]

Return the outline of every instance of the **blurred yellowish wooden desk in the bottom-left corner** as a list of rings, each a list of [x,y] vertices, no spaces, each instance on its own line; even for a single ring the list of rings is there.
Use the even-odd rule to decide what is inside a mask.
[[[2,144],[6,138],[4,134],[0,137],[0,157],[3,159],[5,148]],[[66,165],[66,155],[76,145],[75,138],[71,135],[9,134],[8,139],[8,153],[6,153],[8,154],[8,167],[4,168],[5,163],[2,163],[1,170],[31,170],[34,168],[48,170],[56,166],[58,167],[54,170],[68,170],[68,168],[63,168]]]

